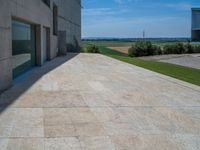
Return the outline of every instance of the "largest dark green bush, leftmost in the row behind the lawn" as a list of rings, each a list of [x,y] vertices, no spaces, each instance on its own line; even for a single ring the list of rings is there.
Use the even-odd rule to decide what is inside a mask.
[[[128,54],[130,57],[160,55],[162,54],[162,50],[159,46],[152,45],[149,41],[140,41],[132,45]]]

